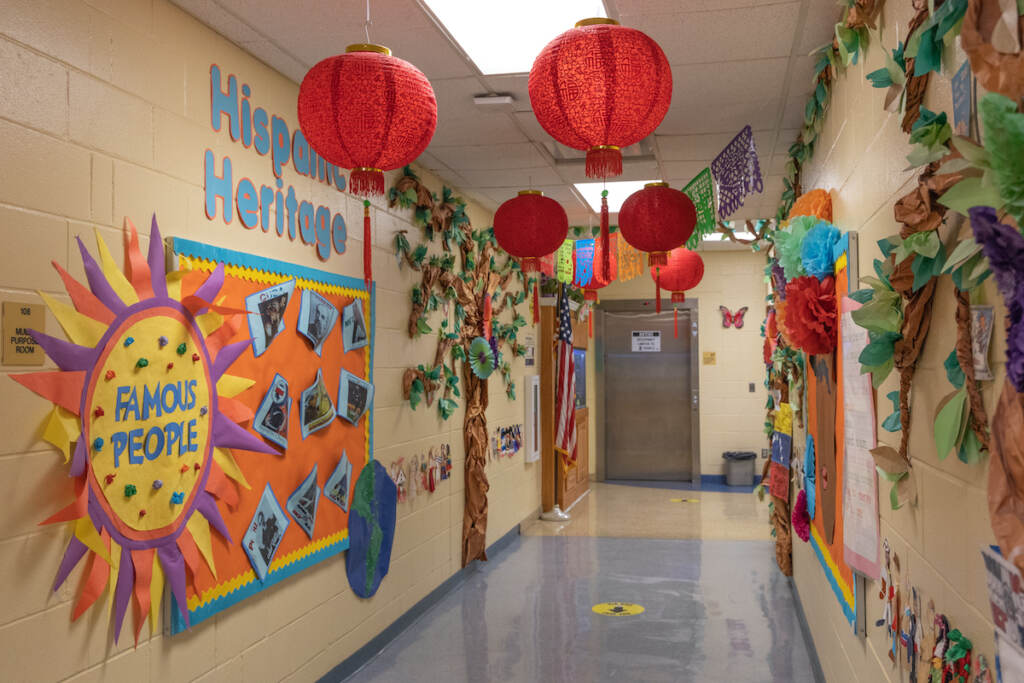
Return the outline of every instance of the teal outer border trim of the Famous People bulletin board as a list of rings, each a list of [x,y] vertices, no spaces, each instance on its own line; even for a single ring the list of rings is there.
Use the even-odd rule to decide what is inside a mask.
[[[304,265],[296,265],[294,263],[287,263],[285,261],[279,261],[272,258],[266,258],[264,256],[256,256],[254,254],[246,254],[243,252],[238,252],[231,249],[225,249],[223,247],[214,247],[212,245],[203,244],[202,242],[195,242],[193,240],[183,240],[181,238],[172,238],[171,251],[176,255],[190,256],[193,258],[203,258],[211,261],[218,261],[222,263],[229,263],[231,265],[237,265],[240,267],[254,268],[256,270],[263,270],[265,272],[273,272],[284,276],[291,278],[302,278],[303,280],[309,280],[315,283],[322,283],[324,285],[332,285],[335,287],[344,287],[347,289],[367,291],[366,282],[357,278],[350,278],[348,275],[341,275],[335,272],[327,272],[326,270],[318,270],[316,268],[311,268]],[[371,283],[370,286],[370,344],[368,346],[370,352],[370,376],[369,382],[373,384],[374,382],[374,348],[377,342],[377,284]],[[374,460],[374,407],[371,405],[370,410],[367,412],[367,428],[370,430],[370,447],[367,453],[367,462],[372,462]],[[344,550],[348,550],[348,537],[345,537],[341,541],[331,544],[330,546],[325,546],[319,550],[306,555],[300,560],[292,562],[288,566],[284,566],[273,571],[267,573],[266,579],[262,582],[258,579],[250,582],[246,586],[234,590],[233,592],[223,595],[219,598],[211,600],[205,605],[201,606],[195,611],[188,612],[189,626],[196,626],[206,620],[210,618],[217,612],[223,611],[228,607],[245,600],[246,598],[252,597],[253,595],[259,593],[263,589],[269,588],[274,584],[288,579],[303,569],[307,569],[314,564],[323,562],[324,560],[341,553]],[[171,610],[171,634],[178,634],[184,631],[185,627],[184,616],[181,613],[180,607],[178,607],[177,601],[174,596],[170,599],[170,610]]]

